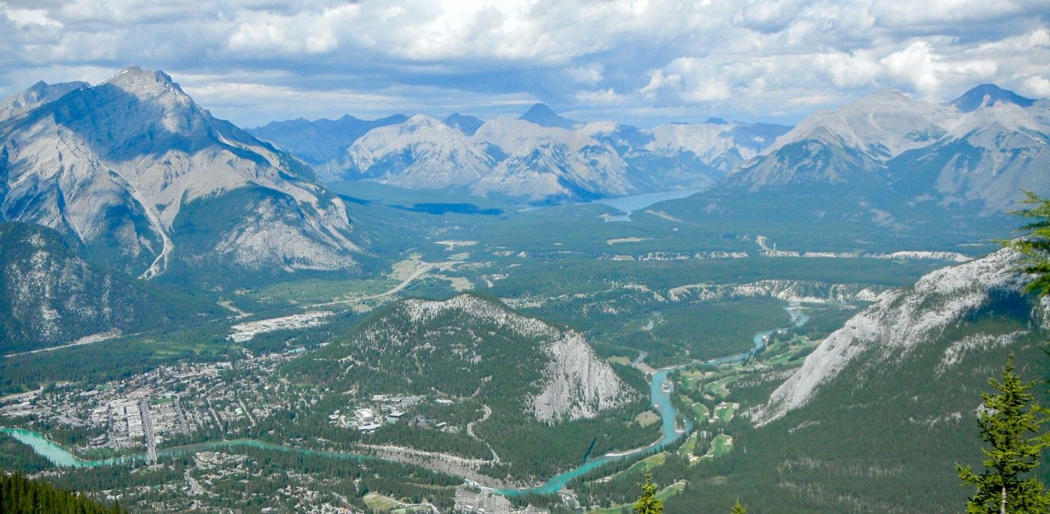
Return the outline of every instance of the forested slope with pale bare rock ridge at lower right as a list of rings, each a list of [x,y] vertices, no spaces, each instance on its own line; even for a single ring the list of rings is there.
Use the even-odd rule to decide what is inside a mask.
[[[1010,354],[1022,379],[1046,373],[1050,303],[1025,292],[1020,263],[1002,250],[883,293],[736,422],[734,451],[689,472],[666,511],[736,498],[754,513],[958,511],[970,491],[953,462],[982,458],[978,392]],[[777,382],[739,394],[757,400]],[[1046,389],[1032,394],[1046,405]]]

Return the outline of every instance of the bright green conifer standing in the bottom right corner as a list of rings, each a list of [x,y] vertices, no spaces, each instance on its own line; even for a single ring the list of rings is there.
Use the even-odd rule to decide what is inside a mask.
[[[989,378],[996,394],[982,393],[983,408],[978,414],[981,439],[991,445],[982,449],[984,471],[974,473],[969,466],[956,465],[963,485],[975,486],[976,493],[966,503],[969,514],[1034,514],[1050,509],[1050,496],[1035,477],[1026,477],[1040,465],[1040,453],[1046,446],[1035,436],[1043,417],[1032,405],[1028,390],[1033,383],[1024,383],[1013,371],[1013,356],[1003,369],[1003,381]]]

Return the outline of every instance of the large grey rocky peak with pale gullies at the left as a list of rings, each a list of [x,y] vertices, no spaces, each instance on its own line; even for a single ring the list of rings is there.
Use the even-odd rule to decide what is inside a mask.
[[[213,118],[163,71],[131,66],[72,89],[0,122],[0,221],[55,228],[147,279],[176,261],[357,267],[345,208],[313,171]]]

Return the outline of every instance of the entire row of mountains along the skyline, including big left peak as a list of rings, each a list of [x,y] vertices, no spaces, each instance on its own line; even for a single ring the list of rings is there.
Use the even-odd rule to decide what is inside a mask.
[[[253,136],[163,71],[131,66],[0,102],[0,221],[54,228],[85,259],[145,279],[172,267],[360,270],[369,234],[322,181],[538,204],[696,188],[652,210],[727,227],[845,221],[962,234],[964,220],[1010,208],[1021,189],[1050,193],[1048,107],[985,84],[944,104],[879,90],[795,127],[712,118],[637,128],[537,104],[517,119],[346,116]]]

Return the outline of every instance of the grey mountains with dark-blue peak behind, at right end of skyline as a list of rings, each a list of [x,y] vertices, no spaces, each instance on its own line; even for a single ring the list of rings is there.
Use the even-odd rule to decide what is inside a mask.
[[[761,203],[794,222],[852,218],[894,229],[930,215],[999,213],[1022,189],[1050,193],[1048,166],[1050,101],[991,84],[944,104],[879,90],[815,112],[665,210],[714,221]]]

